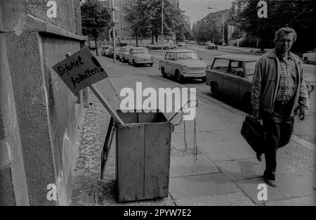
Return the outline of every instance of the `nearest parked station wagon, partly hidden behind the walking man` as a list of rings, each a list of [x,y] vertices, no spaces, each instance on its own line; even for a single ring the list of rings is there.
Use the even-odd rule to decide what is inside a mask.
[[[216,56],[206,70],[206,84],[211,86],[211,94],[220,94],[241,101],[244,110],[251,112],[251,86],[259,56],[222,55]],[[306,83],[308,94],[314,86]]]

